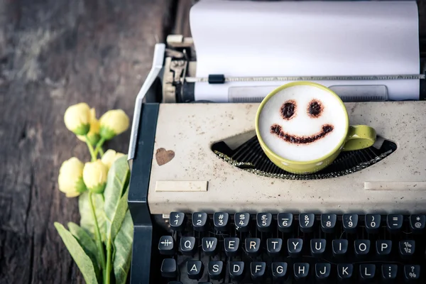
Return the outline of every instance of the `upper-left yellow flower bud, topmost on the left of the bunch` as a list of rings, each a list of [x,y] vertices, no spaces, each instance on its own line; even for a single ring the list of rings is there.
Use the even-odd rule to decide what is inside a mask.
[[[77,135],[84,135],[90,129],[90,109],[82,102],[68,107],[64,114],[65,126]]]

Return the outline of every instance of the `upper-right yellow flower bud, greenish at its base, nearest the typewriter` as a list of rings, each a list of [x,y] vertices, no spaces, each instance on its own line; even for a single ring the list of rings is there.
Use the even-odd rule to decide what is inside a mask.
[[[99,133],[105,140],[109,140],[129,128],[129,116],[121,109],[107,111],[99,121],[101,122]]]

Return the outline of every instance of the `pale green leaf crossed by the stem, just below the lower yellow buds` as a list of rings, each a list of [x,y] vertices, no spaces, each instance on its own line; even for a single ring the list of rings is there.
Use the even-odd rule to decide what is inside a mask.
[[[102,195],[93,195],[92,196],[94,203],[94,212],[97,217],[97,222],[99,225],[99,231],[101,234],[102,241],[106,240],[107,235],[107,226],[105,225],[105,212],[104,212],[104,200]],[[89,203],[89,192],[83,192],[78,200],[78,208],[80,210],[80,226],[87,231],[87,234],[94,239],[94,219],[90,209]]]

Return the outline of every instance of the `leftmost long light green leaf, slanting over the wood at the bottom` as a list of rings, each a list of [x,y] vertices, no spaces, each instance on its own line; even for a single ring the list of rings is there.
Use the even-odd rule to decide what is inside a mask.
[[[58,230],[62,241],[64,242],[65,246],[67,247],[68,251],[72,256],[72,259],[74,259],[75,263],[77,263],[77,266],[80,269],[84,280],[86,280],[86,283],[98,283],[96,274],[94,273],[93,263],[90,260],[89,256],[84,253],[84,250],[78,243],[77,239],[75,239],[75,237],[72,236],[70,231],[65,229],[62,224],[55,222],[55,228]]]

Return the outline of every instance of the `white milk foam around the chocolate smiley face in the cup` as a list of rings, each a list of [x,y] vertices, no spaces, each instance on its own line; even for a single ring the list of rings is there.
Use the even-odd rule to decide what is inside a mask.
[[[322,104],[322,114],[317,118],[312,118],[307,111],[312,99]],[[295,101],[296,110],[290,119],[285,120],[281,107],[288,100]],[[324,157],[336,148],[346,134],[346,119],[345,109],[333,94],[319,87],[298,85],[281,90],[264,104],[258,129],[263,142],[275,154],[288,160],[309,161]],[[333,131],[312,143],[295,144],[271,133],[273,124],[293,136],[310,137],[320,133],[324,125],[333,126]]]

